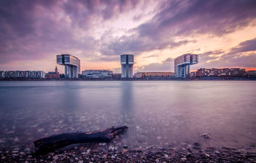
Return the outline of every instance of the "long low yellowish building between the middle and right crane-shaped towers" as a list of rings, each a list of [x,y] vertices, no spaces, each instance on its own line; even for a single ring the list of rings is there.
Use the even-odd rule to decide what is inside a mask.
[[[159,79],[159,78],[174,78],[173,72],[138,72],[134,74],[135,78],[148,78],[148,79]]]

